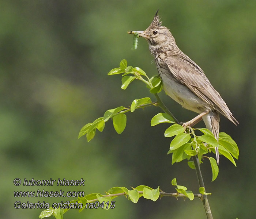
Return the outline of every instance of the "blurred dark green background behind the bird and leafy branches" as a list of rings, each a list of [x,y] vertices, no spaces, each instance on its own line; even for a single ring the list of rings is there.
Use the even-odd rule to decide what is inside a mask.
[[[40,209],[15,209],[14,202],[72,198],[14,198],[14,191],[104,193],[114,186],[144,184],[174,192],[172,178],[197,193],[195,171],[183,161],[171,165],[168,124],[150,127],[160,112],[145,108],[127,115],[118,135],[109,121],[87,143],[77,139],[84,124],[133,99],[154,96],[138,81],[121,90],[120,76],[107,76],[125,58],[149,76],[157,73],[147,42],[131,50],[128,30],[144,30],[159,9],[177,45],[206,73],[240,122],[221,118],[221,131],[237,142],[237,168],[221,157],[211,183],[202,172],[214,218],[254,218],[256,164],[256,1],[0,1],[0,164],[2,218],[38,218]],[[161,97],[180,121],[196,114]],[[201,122],[198,127],[204,127]],[[80,179],[84,187],[15,187],[20,179]],[[70,210],[64,218],[206,218],[200,200],[163,197],[137,204],[119,197],[114,210]]]

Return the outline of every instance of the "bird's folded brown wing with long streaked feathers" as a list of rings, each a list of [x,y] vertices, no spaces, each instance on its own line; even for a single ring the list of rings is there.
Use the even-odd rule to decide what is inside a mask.
[[[205,101],[214,110],[226,116],[231,122],[237,124],[237,120],[219,93],[212,87],[203,70],[189,57],[168,56],[165,64],[173,76],[187,86],[196,96]]]

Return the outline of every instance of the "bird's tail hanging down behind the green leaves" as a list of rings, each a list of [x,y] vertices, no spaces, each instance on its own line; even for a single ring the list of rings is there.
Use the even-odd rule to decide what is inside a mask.
[[[210,111],[207,115],[203,116],[204,123],[206,124],[206,128],[208,128],[217,141],[219,141],[219,114],[216,111]],[[219,165],[219,149],[215,147],[216,152],[216,160]]]

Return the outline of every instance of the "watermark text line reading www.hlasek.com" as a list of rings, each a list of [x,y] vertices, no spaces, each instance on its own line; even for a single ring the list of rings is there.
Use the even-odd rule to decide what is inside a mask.
[[[32,191],[27,191],[27,192],[23,192],[23,191],[18,191],[18,192],[14,192],[14,197],[83,197],[84,196],[84,192],[81,191],[68,191],[66,195],[64,195],[65,191],[62,191],[62,189],[60,189],[60,191],[45,191],[44,189],[42,191],[40,191],[39,189],[37,190],[37,192],[32,192]]]

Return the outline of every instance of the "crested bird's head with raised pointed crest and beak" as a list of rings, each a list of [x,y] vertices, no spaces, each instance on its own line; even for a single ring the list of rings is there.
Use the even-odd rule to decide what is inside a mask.
[[[157,11],[158,12],[158,11]],[[150,26],[144,31],[130,31],[130,34],[138,32],[139,37],[147,39],[149,46],[165,46],[175,43],[170,30],[162,26],[159,15],[156,13]]]

